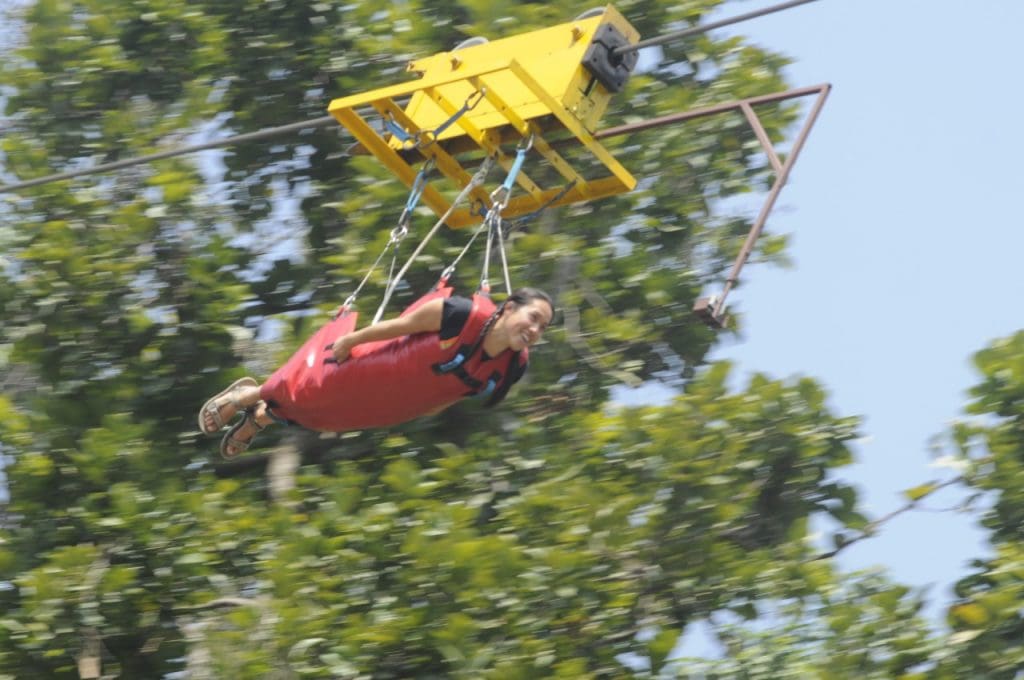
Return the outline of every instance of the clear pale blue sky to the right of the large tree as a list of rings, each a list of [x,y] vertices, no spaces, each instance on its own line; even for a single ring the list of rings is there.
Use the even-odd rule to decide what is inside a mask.
[[[733,2],[717,17],[771,4]],[[1024,327],[1021,27],[1019,0],[819,0],[717,34],[790,56],[794,87],[834,86],[768,220],[791,235],[795,266],[744,269],[729,297],[743,335],[717,357],[742,378],[814,377],[836,413],[863,418],[842,476],[873,517],[954,474],[934,467],[930,441],[968,400],[971,355]],[[931,586],[941,617],[986,552],[974,517],[924,511],[841,563]]]

